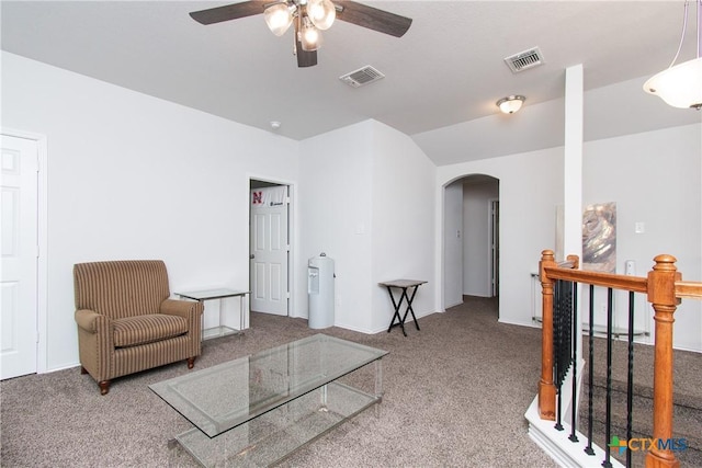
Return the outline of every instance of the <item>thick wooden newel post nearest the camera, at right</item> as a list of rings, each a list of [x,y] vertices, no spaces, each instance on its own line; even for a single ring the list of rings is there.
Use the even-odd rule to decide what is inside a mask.
[[[654,433],[653,438],[668,443],[672,437],[672,323],[680,303],[676,298],[676,281],[681,279],[676,258],[658,255],[648,272],[648,301],[653,305],[656,322],[654,354]],[[670,446],[670,445],[668,445]],[[646,467],[679,467],[680,461],[669,449],[654,444],[646,454]]]

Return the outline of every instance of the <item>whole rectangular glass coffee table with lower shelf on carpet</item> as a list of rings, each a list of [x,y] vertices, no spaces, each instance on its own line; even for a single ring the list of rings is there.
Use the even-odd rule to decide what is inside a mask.
[[[176,441],[201,465],[269,466],[380,403],[386,354],[315,334],[149,388],[195,426]]]

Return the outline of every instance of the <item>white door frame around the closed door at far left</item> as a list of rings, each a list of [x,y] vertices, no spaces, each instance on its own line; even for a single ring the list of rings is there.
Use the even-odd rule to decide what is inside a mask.
[[[46,135],[35,134],[31,132],[18,130],[15,128],[2,127],[0,128],[2,135],[24,138],[36,142],[37,158],[38,158],[38,174],[36,180],[37,191],[37,206],[36,206],[36,221],[37,221],[37,244],[38,252],[36,258],[36,373],[43,374],[48,368],[48,350],[47,343],[47,290],[48,290],[48,230],[47,230],[47,186],[48,186],[48,164],[47,164],[47,138]]]

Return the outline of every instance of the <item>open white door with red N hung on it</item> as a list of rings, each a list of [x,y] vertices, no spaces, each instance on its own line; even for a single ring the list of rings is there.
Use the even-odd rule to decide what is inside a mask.
[[[251,310],[287,316],[287,186],[251,190]]]

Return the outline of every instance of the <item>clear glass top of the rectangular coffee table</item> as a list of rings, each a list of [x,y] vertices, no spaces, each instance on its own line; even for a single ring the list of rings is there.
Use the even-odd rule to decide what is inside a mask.
[[[149,388],[214,437],[386,354],[383,350],[315,334]]]

